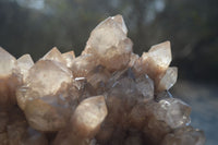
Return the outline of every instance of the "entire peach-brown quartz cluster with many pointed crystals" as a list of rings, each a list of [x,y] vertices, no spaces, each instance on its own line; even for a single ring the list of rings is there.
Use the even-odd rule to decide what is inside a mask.
[[[132,47],[116,15],[78,57],[52,48],[34,63],[0,48],[0,145],[204,145],[191,107],[169,93],[170,43],[141,57]]]

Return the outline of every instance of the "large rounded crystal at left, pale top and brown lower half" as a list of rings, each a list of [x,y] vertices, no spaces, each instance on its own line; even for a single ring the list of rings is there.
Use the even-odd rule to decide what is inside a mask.
[[[32,67],[16,94],[19,106],[34,129],[57,131],[65,125],[71,112],[71,82],[70,70],[57,61],[39,60]]]

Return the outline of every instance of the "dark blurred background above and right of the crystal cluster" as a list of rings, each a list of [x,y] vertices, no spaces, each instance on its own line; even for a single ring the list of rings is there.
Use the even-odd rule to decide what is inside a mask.
[[[179,81],[173,96],[193,108],[192,124],[218,143],[218,0],[0,0],[0,46],[36,61],[52,47],[80,55],[92,29],[122,14],[141,55],[170,40]]]

